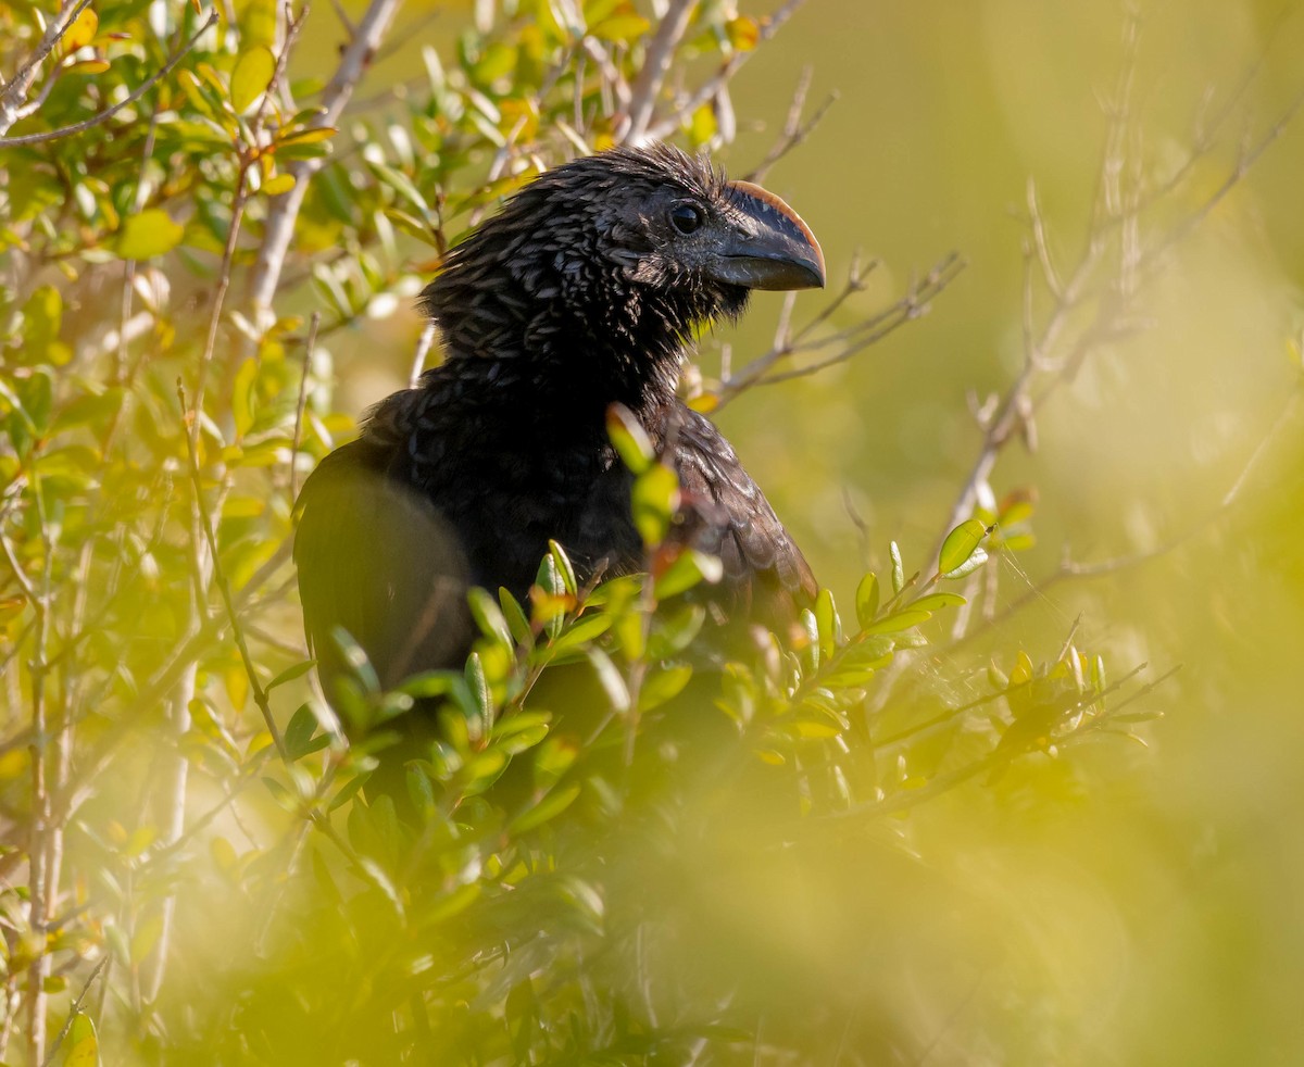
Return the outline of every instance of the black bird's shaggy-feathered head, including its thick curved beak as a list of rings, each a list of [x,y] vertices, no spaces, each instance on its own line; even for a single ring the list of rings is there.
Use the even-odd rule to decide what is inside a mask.
[[[422,297],[452,357],[583,360],[664,385],[694,329],[738,316],[751,290],[823,284],[819,241],[782,200],[653,145],[540,175]]]

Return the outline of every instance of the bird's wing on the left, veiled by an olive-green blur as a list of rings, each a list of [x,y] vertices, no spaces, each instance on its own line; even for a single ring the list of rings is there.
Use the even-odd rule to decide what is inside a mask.
[[[304,631],[333,697],[343,627],[391,686],[458,667],[471,643],[466,556],[424,496],[386,472],[365,438],[327,455],[299,494],[295,562]]]

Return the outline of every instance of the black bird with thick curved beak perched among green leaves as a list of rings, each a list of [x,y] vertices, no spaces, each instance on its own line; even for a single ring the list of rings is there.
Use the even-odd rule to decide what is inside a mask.
[[[468,584],[523,599],[550,537],[582,580],[602,561],[640,569],[614,403],[673,450],[670,536],[724,561],[720,612],[789,625],[815,594],[810,567],[675,382],[694,331],[735,318],[751,290],[823,284],[819,243],[786,203],[669,146],[578,159],[516,193],[422,292],[443,363],[304,485],[295,560],[326,691],[336,626],[386,685],[460,665]]]

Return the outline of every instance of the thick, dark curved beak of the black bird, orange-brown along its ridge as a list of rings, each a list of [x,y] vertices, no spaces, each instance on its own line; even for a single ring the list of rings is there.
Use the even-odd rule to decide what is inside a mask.
[[[824,287],[824,253],[811,228],[768,189],[730,181],[738,224],[712,257],[717,280],[752,290]]]

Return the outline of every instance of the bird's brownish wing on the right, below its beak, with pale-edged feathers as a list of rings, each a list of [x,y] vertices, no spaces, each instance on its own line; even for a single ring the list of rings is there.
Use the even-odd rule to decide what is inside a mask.
[[[726,612],[786,627],[818,591],[801,549],[711,420],[683,408],[673,440],[683,500],[678,536],[724,562]]]

